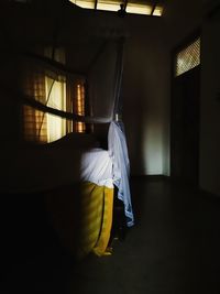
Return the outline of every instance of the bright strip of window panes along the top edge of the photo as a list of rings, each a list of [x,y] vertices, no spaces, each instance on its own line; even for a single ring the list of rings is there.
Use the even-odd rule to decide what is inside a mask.
[[[69,0],[72,3],[92,10],[114,11],[152,17],[162,17],[164,0]]]

